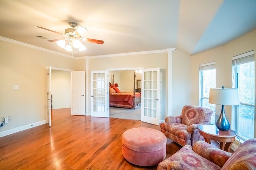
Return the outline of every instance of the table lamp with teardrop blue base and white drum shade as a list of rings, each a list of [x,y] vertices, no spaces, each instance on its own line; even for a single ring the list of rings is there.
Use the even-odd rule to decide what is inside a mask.
[[[216,127],[221,131],[228,131],[230,124],[226,117],[224,105],[240,105],[237,88],[210,88],[209,103],[222,105],[220,117]]]

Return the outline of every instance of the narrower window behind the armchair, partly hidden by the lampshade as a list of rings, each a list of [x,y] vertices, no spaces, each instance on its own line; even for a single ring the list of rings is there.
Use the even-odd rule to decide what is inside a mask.
[[[213,110],[211,124],[215,125],[215,104],[209,104],[210,88],[216,88],[215,62],[200,65],[200,106]]]

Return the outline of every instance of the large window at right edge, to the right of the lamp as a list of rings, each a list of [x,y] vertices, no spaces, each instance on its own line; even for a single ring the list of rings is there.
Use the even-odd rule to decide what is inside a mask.
[[[238,88],[240,105],[236,106],[236,132],[246,141],[254,138],[255,76],[254,51],[232,58],[232,86]]]

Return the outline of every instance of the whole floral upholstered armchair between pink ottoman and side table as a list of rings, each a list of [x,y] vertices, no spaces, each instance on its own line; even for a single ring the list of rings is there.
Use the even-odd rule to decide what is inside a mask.
[[[186,105],[181,115],[166,117],[165,122],[160,124],[161,132],[181,146],[193,146],[196,141],[204,141],[198,126],[210,124],[211,116],[211,109]]]

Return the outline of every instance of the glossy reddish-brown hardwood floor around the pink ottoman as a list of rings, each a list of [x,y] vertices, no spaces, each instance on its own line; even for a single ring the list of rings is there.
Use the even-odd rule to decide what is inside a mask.
[[[121,136],[134,127],[157,125],[138,120],[70,115],[53,109],[48,124],[0,138],[0,169],[26,170],[156,170],[130,164],[121,152]],[[167,139],[166,158],[180,149]]]

